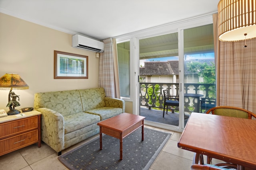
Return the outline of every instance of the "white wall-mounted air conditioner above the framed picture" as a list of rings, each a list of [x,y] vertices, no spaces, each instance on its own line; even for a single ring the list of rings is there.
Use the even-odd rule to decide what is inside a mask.
[[[104,43],[82,35],[72,36],[72,47],[102,53],[104,51]]]

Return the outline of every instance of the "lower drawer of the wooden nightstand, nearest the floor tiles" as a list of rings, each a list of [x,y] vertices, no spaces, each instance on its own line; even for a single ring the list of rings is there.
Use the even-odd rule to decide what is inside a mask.
[[[0,141],[0,155],[38,142],[38,129]],[[3,147],[4,146],[4,147]]]

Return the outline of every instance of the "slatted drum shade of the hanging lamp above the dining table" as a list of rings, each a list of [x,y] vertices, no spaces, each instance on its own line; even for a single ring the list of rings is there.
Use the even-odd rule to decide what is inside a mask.
[[[220,41],[240,41],[256,37],[255,0],[220,0],[218,4]]]

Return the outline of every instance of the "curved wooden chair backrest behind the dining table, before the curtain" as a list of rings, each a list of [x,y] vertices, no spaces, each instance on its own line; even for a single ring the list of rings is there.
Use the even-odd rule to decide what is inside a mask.
[[[222,116],[229,116],[229,117],[240,117],[244,119],[252,119],[252,117],[256,118],[256,115],[251,111],[246,109],[242,109],[239,107],[232,107],[232,106],[217,106],[212,107],[206,114],[212,113],[213,115],[222,115]]]

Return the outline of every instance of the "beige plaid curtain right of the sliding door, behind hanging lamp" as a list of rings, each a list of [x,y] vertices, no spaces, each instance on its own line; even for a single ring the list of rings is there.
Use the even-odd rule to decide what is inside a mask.
[[[256,113],[256,38],[245,41],[218,40],[217,14],[213,15],[216,47],[217,106],[234,106]]]

